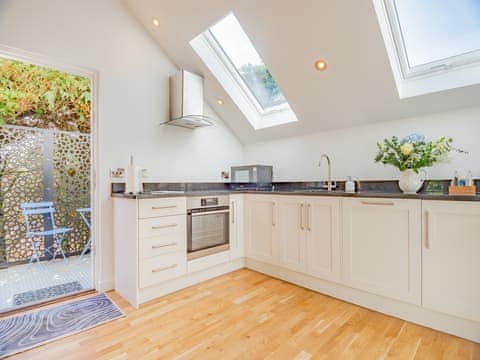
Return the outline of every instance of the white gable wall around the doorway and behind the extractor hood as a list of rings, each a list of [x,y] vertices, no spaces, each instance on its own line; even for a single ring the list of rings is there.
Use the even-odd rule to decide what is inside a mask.
[[[242,145],[218,121],[190,131],[160,127],[168,115],[168,76],[175,66],[120,0],[1,0],[0,44],[99,71],[101,267],[113,284],[112,205],[108,169],[133,154],[166,180],[217,180],[242,159]]]

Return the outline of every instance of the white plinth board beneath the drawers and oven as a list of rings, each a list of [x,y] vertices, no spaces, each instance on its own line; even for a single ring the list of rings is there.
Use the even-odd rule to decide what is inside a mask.
[[[208,269],[197,271],[191,274],[184,275],[172,281],[168,281],[156,286],[140,289],[140,304],[153,300],[160,296],[170,294],[172,292],[187,288],[192,285],[201,283],[212,279],[214,277],[227,274],[229,272],[243,269],[245,267],[245,260],[237,259],[223,264],[212,266]]]

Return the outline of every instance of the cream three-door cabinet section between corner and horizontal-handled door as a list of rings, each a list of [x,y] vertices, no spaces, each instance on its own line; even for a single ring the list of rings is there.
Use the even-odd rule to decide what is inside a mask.
[[[339,198],[249,195],[247,204],[247,257],[340,280]]]

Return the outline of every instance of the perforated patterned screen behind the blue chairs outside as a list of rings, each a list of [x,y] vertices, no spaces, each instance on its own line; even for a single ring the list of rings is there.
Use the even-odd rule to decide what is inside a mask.
[[[2,126],[0,156],[10,167],[28,170],[4,193],[4,260],[28,261],[32,254],[20,210],[23,202],[53,201],[56,226],[72,228],[63,243],[64,251],[67,255],[81,251],[89,230],[76,209],[90,206],[90,135]],[[9,181],[2,179],[1,191],[8,188]],[[31,229],[43,230],[45,220],[49,221],[42,215],[30,217]],[[49,222],[45,224],[49,229]],[[44,247],[42,242],[42,254]]]

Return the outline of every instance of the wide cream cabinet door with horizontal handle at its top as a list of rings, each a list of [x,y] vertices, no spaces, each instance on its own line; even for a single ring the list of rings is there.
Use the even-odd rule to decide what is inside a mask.
[[[342,199],[347,285],[413,304],[421,296],[421,201]]]

